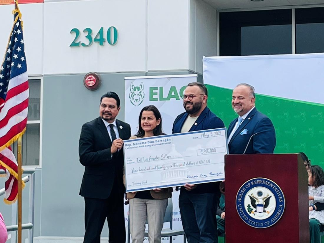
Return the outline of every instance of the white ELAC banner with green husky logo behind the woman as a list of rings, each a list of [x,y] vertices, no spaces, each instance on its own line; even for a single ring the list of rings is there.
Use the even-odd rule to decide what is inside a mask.
[[[131,125],[132,134],[138,131],[140,111],[147,105],[157,107],[162,116],[163,132],[171,134],[173,121],[185,111],[181,95],[189,83],[196,81],[197,74],[125,77],[125,122]],[[172,229],[181,230],[179,191],[173,191],[172,203]],[[128,205],[124,207],[124,212],[127,232]],[[165,223],[163,228],[170,228],[170,224]],[[163,237],[161,242],[170,242],[169,237]],[[172,237],[172,242],[182,243],[183,236]],[[148,243],[147,237],[145,237],[144,243]]]

